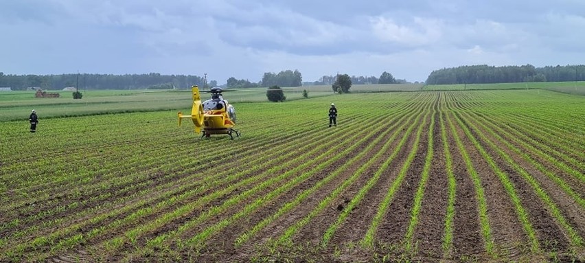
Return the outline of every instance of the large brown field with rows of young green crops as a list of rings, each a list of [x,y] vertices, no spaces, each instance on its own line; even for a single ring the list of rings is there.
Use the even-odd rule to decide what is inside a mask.
[[[585,260],[585,97],[236,108],[234,140],[174,111],[1,122],[0,262]]]

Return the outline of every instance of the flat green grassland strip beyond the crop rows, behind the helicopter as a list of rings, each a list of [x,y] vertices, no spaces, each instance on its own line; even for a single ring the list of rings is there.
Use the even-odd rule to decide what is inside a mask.
[[[355,93],[381,91],[415,91],[419,84],[354,85]],[[301,100],[303,90],[309,98],[337,95],[329,85],[308,87],[284,87],[287,101]],[[54,92],[54,91],[51,91]],[[60,98],[34,98],[34,91],[0,92],[0,122],[27,119],[34,108],[42,118],[70,117],[76,115],[100,115],[108,113],[129,113],[147,111],[185,111],[192,100],[190,90],[104,90],[82,91],[81,100],[73,100],[71,91],[56,91]],[[205,98],[205,93],[203,93]],[[266,102],[266,88],[236,89],[225,93],[225,98],[233,104],[247,102]]]

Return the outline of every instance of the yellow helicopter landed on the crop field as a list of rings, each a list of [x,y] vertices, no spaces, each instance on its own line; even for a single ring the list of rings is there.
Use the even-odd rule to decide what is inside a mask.
[[[221,93],[224,92],[220,87],[211,88],[209,91],[202,91],[204,93],[211,93],[211,99],[201,102],[199,95],[199,88],[195,85],[191,87],[193,95],[193,107],[191,115],[179,115],[179,126],[181,126],[181,119],[190,118],[195,124],[195,133],[200,133],[203,130],[203,137],[210,137],[211,135],[227,134],[230,139],[233,135],[240,137],[240,131],[233,128],[236,126],[236,108],[225,100]]]

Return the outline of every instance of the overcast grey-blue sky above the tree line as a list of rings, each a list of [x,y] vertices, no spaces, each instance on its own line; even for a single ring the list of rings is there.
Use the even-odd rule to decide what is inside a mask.
[[[584,63],[584,0],[0,0],[4,74],[414,82],[460,65]]]

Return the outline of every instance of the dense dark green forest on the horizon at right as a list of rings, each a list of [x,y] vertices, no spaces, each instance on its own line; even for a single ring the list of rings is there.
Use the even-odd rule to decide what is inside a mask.
[[[426,84],[483,84],[513,82],[562,82],[585,80],[585,65],[555,67],[488,65],[461,66],[435,70]]]

